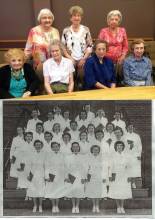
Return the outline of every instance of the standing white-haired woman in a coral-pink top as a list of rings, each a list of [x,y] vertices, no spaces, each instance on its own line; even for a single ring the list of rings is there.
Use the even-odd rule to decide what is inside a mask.
[[[119,66],[125,59],[128,52],[128,39],[126,30],[119,27],[122,21],[122,14],[118,10],[110,11],[107,15],[108,27],[102,28],[98,38],[108,43],[106,56],[111,58],[116,64],[116,71],[119,72]]]

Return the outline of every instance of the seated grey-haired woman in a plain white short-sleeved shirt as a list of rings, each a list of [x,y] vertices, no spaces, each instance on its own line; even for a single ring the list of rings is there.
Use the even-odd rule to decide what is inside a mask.
[[[62,56],[63,46],[54,40],[51,44],[52,58],[43,64],[44,86],[47,94],[72,92],[74,89],[74,66],[70,59]]]

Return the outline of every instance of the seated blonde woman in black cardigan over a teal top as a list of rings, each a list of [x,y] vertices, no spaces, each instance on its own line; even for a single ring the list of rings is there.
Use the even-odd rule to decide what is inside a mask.
[[[28,97],[35,94],[40,82],[21,49],[5,53],[8,65],[0,68],[0,98]]]

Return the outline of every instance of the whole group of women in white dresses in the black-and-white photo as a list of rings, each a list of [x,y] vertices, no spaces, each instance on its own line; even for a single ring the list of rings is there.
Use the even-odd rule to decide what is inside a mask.
[[[133,124],[126,128],[120,112],[108,122],[103,109],[96,117],[82,110],[68,123],[67,114],[63,117],[60,108],[55,110],[44,122],[33,110],[26,132],[17,127],[10,150],[10,176],[33,199],[33,212],[42,212],[47,198],[52,200],[52,213],[58,213],[59,199],[65,197],[72,201],[72,213],[79,213],[84,198],[91,199],[92,212],[99,213],[100,199],[108,197],[116,200],[117,213],[125,213],[124,200],[132,198],[135,179],[141,177],[142,144]]]

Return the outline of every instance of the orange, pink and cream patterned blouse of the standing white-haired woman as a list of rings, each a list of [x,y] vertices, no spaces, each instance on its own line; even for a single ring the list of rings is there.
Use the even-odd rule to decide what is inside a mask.
[[[34,68],[51,57],[49,46],[55,39],[60,40],[60,36],[58,30],[54,27],[49,32],[42,31],[40,25],[30,30],[25,47],[25,55],[33,57]]]

